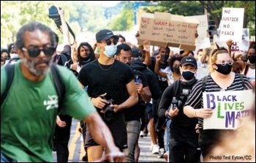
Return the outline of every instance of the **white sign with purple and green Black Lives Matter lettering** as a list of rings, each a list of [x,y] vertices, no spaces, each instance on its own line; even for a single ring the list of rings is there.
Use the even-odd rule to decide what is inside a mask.
[[[211,118],[203,119],[203,129],[236,129],[238,118],[249,117],[255,95],[252,90],[203,92],[203,108],[211,108]]]

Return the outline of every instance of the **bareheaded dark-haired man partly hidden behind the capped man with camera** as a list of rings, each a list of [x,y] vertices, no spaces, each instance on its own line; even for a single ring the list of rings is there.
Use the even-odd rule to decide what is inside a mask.
[[[130,65],[133,59],[132,48],[126,43],[121,43],[121,45],[117,46],[115,58],[124,64]],[[151,92],[148,88],[146,77],[142,72],[135,69],[133,69],[133,73],[135,76],[135,86],[138,91],[139,101],[137,104],[125,110],[126,112],[124,113],[128,137],[128,148],[124,150],[126,162],[138,162],[138,157],[140,156],[138,139],[142,126],[140,122],[144,122],[145,124],[146,102],[150,102],[151,100]]]

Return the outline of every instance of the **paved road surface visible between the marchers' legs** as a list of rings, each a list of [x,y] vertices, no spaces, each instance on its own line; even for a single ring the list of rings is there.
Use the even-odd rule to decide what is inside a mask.
[[[72,120],[71,135],[69,140],[69,162],[83,162],[82,157],[85,154],[83,142],[80,140],[81,134],[78,132],[80,123],[78,120]],[[152,154],[150,151],[151,139],[140,137],[140,158],[139,162],[166,162],[165,159],[158,159],[157,154]],[[56,152],[53,152],[54,161],[56,162]]]

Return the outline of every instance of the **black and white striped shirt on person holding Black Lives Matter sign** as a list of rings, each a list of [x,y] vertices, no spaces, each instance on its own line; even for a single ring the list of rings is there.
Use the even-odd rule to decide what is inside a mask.
[[[233,81],[231,86],[227,87],[225,91],[242,91],[244,89],[252,89],[252,84],[250,83],[249,79],[245,75],[242,76],[244,78],[244,83],[241,80],[241,77],[236,73],[235,80]],[[197,81],[197,83],[195,83],[195,86],[192,88],[191,94],[189,94],[187,102],[184,106],[189,105],[195,109],[203,108],[202,86],[202,79],[200,79]],[[205,91],[217,92],[221,90],[222,88],[220,88],[219,85],[217,85],[217,83],[214,82],[211,75],[208,75]],[[198,118],[198,125],[200,129],[203,129],[203,118]]]

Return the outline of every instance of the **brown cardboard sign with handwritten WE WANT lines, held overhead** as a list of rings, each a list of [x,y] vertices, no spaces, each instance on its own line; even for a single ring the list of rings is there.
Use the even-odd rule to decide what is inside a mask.
[[[140,36],[138,44],[144,40],[159,47],[176,47],[195,50],[195,34],[199,20],[184,18],[182,15],[155,12],[142,13],[140,18]]]

